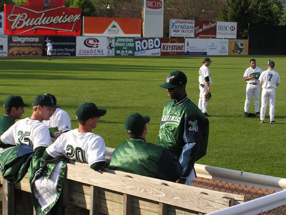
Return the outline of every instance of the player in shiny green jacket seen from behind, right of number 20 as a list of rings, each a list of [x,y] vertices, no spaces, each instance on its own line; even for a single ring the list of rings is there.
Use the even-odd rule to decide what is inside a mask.
[[[125,128],[130,139],[115,148],[109,168],[175,182],[183,168],[169,149],[145,141],[149,121],[139,113],[127,117]]]

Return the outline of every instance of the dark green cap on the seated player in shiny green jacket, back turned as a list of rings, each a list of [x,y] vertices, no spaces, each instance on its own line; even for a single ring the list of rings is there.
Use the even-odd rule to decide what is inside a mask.
[[[149,116],[142,116],[139,113],[130,114],[125,120],[125,128],[128,134],[140,136],[145,124],[150,121]]]

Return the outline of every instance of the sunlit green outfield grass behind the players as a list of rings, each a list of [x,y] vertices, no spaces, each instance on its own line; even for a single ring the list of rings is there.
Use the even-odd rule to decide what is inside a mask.
[[[260,124],[259,118],[244,118],[245,81],[249,65],[246,57],[211,57],[209,67],[212,98],[208,103],[210,121],[207,154],[197,163],[251,173],[286,178],[285,102],[286,57],[256,57],[257,67],[267,69],[268,59],[275,61],[281,84],[276,90],[275,121]],[[102,136],[108,147],[127,139],[125,118],[134,112],[149,115],[147,141],[156,143],[164,104],[169,101],[159,87],[174,71],[185,72],[187,95],[199,99],[198,70],[203,57],[117,57],[117,58],[46,58],[0,59],[0,104],[11,94],[25,103],[43,93],[54,94],[77,127],[75,112],[83,102],[105,107],[94,133]],[[22,118],[31,116],[26,107]],[[253,100],[249,112],[254,113]],[[4,110],[1,110],[1,114]],[[267,107],[266,122],[269,122]]]

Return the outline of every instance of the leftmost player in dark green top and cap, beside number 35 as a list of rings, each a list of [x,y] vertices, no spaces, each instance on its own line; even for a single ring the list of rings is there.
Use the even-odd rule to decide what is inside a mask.
[[[25,104],[20,96],[11,95],[4,101],[5,114],[0,117],[0,135],[8,130],[15,119],[20,119],[22,114],[25,113],[24,107],[30,106]]]

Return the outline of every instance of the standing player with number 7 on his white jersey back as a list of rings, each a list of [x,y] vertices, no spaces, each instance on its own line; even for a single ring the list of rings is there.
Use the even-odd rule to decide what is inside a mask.
[[[274,121],[275,113],[275,89],[279,86],[279,74],[273,70],[275,66],[274,61],[268,62],[268,70],[263,71],[259,77],[260,85],[262,85],[261,93],[261,109],[260,109],[260,123],[264,123],[266,106],[269,103],[270,124],[276,124]]]

